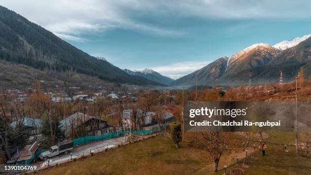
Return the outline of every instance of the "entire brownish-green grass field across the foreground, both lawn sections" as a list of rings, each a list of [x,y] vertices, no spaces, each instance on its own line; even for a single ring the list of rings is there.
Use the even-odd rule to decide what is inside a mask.
[[[270,133],[265,141],[290,143],[292,133]],[[251,142],[251,145],[256,144]],[[257,143],[258,144],[258,143]],[[267,155],[253,159],[254,165],[244,168],[244,174],[309,174],[311,159],[294,154],[294,147],[286,153],[283,145],[268,143]],[[252,148],[247,148],[252,150]],[[221,157],[219,169],[234,164],[236,157],[245,157],[244,152],[225,153]],[[52,167],[40,174],[213,174],[213,163],[205,150],[189,148],[181,143],[176,149],[170,139],[155,137],[103,152],[84,160]],[[234,165],[230,168],[240,167]],[[228,168],[228,170],[230,169]],[[224,169],[216,174],[224,174]]]

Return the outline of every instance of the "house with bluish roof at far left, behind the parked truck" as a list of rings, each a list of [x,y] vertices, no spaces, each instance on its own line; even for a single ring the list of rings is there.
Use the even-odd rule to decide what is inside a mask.
[[[33,119],[25,117],[24,119],[19,119],[18,121],[14,121],[11,123],[12,128],[15,128],[17,125],[20,125],[22,122],[23,128],[26,132],[28,132],[29,140],[33,140],[40,135],[39,127],[41,127],[41,119]]]

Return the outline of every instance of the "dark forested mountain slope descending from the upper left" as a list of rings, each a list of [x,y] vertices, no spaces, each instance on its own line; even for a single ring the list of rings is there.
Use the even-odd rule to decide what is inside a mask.
[[[106,59],[90,56],[40,25],[2,6],[0,60],[41,71],[54,71],[56,74],[73,71],[109,82],[162,85],[142,76],[131,76]]]

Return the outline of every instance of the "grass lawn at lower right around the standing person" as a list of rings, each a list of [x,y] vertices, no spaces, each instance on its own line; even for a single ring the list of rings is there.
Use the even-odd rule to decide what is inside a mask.
[[[253,161],[254,164],[249,167],[242,167],[242,163],[234,165],[227,169],[227,172],[232,168],[240,168],[244,170],[244,174],[311,174],[311,159],[304,158],[295,154],[295,147],[288,146],[295,141],[295,134],[293,132],[273,132],[267,133],[269,137],[265,139],[268,145],[266,156],[261,156],[260,150],[257,150],[257,157],[249,156],[248,160]],[[310,133],[300,133],[299,142],[303,142],[310,138]],[[282,143],[281,145],[272,143]],[[258,142],[250,142],[250,144],[258,144]],[[287,144],[285,152],[284,144]],[[311,153],[309,153],[311,154]],[[225,171],[221,170],[216,174],[223,174]]]

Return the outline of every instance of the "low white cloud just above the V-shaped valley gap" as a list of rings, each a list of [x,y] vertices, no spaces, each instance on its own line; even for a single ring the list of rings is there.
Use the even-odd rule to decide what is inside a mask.
[[[173,63],[171,65],[153,67],[154,71],[159,72],[162,75],[168,76],[172,79],[178,79],[184,75],[188,75],[198,69],[208,65],[209,61],[203,62],[181,62]]]

